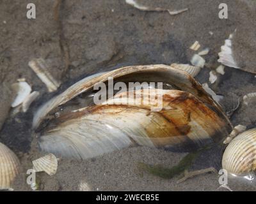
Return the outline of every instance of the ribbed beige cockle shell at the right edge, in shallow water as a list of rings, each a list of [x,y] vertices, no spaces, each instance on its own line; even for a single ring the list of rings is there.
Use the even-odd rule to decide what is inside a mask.
[[[222,168],[235,175],[256,170],[256,128],[241,133],[229,143]]]

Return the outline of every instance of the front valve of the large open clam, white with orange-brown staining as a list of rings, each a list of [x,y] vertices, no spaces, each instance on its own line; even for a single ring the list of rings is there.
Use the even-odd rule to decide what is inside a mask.
[[[147,98],[148,91],[138,92]],[[132,145],[187,152],[218,142],[228,134],[227,121],[192,94],[161,89],[157,94],[163,94],[163,109],[159,112],[151,112],[151,105],[136,103],[136,99],[129,98],[133,94],[123,92],[121,99],[117,95],[102,105],[62,115],[54,121],[56,126],[41,137],[40,148],[81,159]]]

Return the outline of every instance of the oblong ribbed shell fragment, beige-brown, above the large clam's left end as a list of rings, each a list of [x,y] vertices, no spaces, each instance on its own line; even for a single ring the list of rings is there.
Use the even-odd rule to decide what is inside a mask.
[[[37,77],[44,82],[49,92],[56,91],[58,87],[60,87],[60,82],[52,77],[44,59],[33,59],[29,61],[28,65],[31,69],[33,69],[33,71],[35,71]]]

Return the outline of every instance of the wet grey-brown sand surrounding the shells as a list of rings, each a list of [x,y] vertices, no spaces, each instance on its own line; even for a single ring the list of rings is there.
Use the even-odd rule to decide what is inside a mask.
[[[28,62],[34,57],[44,57],[51,64],[52,75],[62,82],[60,90],[63,90],[86,75],[120,66],[188,63],[195,54],[189,47],[197,40],[200,49],[210,48],[209,54],[204,56],[207,66],[196,77],[200,83],[205,83],[209,82],[209,72],[220,65],[217,62],[218,52],[230,33],[243,24],[248,29],[248,38],[253,37],[250,33],[253,32],[251,21],[246,21],[247,13],[250,18],[249,13],[255,9],[253,1],[225,1],[228,4],[228,19],[218,18],[218,5],[223,1],[141,1],[172,10],[189,8],[174,16],[168,12],[140,11],[123,0],[65,1],[60,10],[61,37],[59,24],[54,20],[52,11],[54,3],[49,0],[32,2],[36,4],[35,20],[26,18],[28,2],[25,0],[3,0],[0,3],[0,29],[3,33],[0,35],[1,84],[12,84],[18,78],[26,78],[33,91],[40,91],[40,98],[33,103],[28,113],[14,114],[15,110],[12,109],[0,131],[0,142],[10,147],[22,163],[22,172],[13,184],[17,191],[31,190],[26,184],[26,170],[32,167],[33,159],[44,155],[38,152],[38,139],[31,129],[33,113],[40,104],[56,94],[49,94],[45,85],[28,67]],[[61,52],[60,38],[67,43],[71,64],[68,69],[65,67],[67,57]],[[232,93],[243,98],[245,94],[256,90],[256,78],[252,73],[225,68],[225,75],[218,77],[211,88],[224,97]],[[6,101],[1,98],[3,110],[10,108],[8,103],[3,103]],[[255,102],[249,106],[242,104],[232,115],[232,124],[255,127],[255,105]],[[4,117],[2,112],[1,117]],[[205,152],[195,161],[191,170],[210,166],[221,168],[221,153],[222,149]],[[218,175],[214,173],[176,184],[177,178],[161,179],[138,168],[141,162],[170,168],[183,156],[159,149],[132,147],[85,161],[61,158],[56,175],[49,177],[45,173],[38,173],[37,177],[42,191],[227,190],[218,189]],[[255,190],[252,185],[241,182],[231,181],[230,187],[240,191]]]

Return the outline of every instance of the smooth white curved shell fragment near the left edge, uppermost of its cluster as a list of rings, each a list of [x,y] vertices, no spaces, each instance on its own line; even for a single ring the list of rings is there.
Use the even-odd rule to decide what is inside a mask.
[[[16,92],[16,97],[13,100],[12,107],[15,108],[23,103],[29,96],[31,87],[27,82],[17,82],[12,85],[12,89]]]

